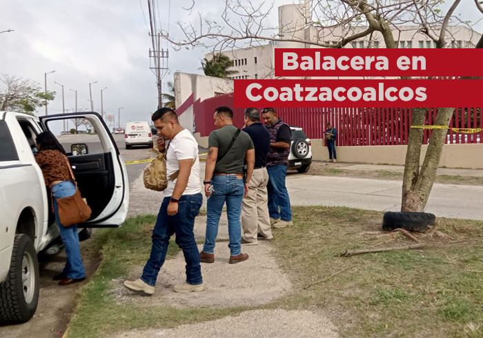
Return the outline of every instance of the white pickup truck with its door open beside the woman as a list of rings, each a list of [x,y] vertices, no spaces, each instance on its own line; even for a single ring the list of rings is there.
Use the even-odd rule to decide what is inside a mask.
[[[87,119],[97,131],[102,149],[89,154],[83,143],[66,149],[79,189],[92,209],[90,219],[79,227],[117,227],[126,219],[126,166],[96,112],[40,118],[0,112],[0,325],[28,321],[37,309],[37,253],[59,237],[59,229],[52,214],[50,189],[34,159],[35,138],[67,119]]]

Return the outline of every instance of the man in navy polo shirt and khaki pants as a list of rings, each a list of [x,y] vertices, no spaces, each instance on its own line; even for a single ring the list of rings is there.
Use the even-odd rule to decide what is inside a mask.
[[[258,239],[273,239],[268,215],[268,172],[266,155],[270,150],[270,132],[262,125],[257,108],[246,108],[244,132],[255,146],[255,168],[242,203],[242,244],[256,245]]]

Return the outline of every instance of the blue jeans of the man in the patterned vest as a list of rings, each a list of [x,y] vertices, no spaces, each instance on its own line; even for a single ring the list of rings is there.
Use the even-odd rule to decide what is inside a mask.
[[[290,197],[285,186],[287,166],[277,164],[266,167],[268,171],[268,213],[270,218],[292,220],[292,209],[290,208]]]

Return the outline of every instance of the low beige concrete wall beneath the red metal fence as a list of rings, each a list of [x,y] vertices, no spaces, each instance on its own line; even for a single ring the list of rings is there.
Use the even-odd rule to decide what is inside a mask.
[[[208,148],[208,137],[195,134],[199,146]],[[428,146],[422,146],[421,163]],[[336,147],[337,160],[348,163],[392,164],[404,166],[406,146],[355,146]],[[483,143],[479,144],[445,144],[441,156],[440,167],[483,169]],[[323,139],[312,140],[312,157],[314,161],[327,161],[328,150]]]

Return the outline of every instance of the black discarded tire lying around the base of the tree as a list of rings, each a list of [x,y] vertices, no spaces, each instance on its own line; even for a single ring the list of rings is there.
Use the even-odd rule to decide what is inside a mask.
[[[435,215],[428,212],[385,212],[382,221],[384,230],[402,228],[409,231],[426,232],[435,223]]]

